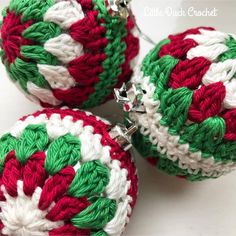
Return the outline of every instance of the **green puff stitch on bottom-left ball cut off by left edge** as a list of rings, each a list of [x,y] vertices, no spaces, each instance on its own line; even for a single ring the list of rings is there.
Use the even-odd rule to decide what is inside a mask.
[[[6,155],[15,149],[17,140],[11,134],[5,134],[0,139],[0,173],[2,173],[5,164]]]

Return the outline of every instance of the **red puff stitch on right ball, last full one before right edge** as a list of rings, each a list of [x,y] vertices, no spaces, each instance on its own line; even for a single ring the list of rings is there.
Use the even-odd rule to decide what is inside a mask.
[[[221,112],[225,95],[226,89],[222,82],[203,85],[193,95],[189,108],[189,119],[200,123],[209,117],[218,115]]]

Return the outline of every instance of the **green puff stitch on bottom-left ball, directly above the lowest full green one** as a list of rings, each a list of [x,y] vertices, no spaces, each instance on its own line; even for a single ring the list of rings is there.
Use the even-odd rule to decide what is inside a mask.
[[[68,194],[84,197],[101,194],[109,183],[109,169],[99,160],[82,164],[73,179]]]

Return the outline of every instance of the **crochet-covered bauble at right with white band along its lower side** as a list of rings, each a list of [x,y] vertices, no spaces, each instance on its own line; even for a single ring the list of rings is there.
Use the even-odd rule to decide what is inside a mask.
[[[236,167],[236,35],[200,27],[170,35],[133,78],[144,112],[134,145],[149,162],[191,181]]]

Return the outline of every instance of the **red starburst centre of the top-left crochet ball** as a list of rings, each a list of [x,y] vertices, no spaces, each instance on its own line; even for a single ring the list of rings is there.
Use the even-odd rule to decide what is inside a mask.
[[[4,58],[9,64],[13,63],[17,57],[23,59],[20,54],[21,46],[30,45],[31,41],[22,37],[22,32],[32,25],[33,21],[21,22],[21,15],[7,10],[7,15],[3,19],[1,27],[2,49]]]

